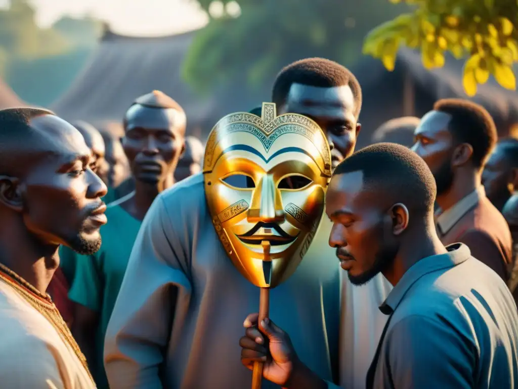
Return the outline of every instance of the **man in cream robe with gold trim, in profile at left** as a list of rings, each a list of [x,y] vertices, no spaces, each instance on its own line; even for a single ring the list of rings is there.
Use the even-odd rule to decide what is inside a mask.
[[[46,293],[58,248],[95,253],[106,186],[71,124],[49,111],[0,111],[0,386],[90,389],[86,360]]]

